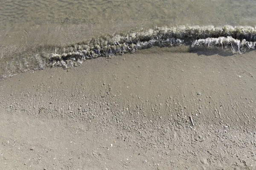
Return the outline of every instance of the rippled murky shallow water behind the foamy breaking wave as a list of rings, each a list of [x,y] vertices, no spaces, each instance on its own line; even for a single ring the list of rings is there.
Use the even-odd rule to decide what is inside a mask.
[[[92,37],[160,26],[253,26],[254,0],[0,0],[0,78]]]

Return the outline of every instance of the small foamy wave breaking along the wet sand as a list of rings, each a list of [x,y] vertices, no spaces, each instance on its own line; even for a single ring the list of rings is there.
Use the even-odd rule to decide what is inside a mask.
[[[127,34],[99,37],[44,56],[49,66],[66,68],[79,65],[86,59],[111,57],[140,49],[189,45],[190,48],[220,48],[232,53],[244,53],[256,47],[256,29],[251,26],[180,26],[160,27]]]

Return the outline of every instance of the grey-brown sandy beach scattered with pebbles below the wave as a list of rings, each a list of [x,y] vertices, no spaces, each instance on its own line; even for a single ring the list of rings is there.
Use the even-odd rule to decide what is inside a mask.
[[[256,52],[155,51],[0,81],[0,169],[256,169]]]

